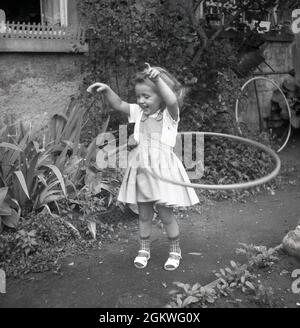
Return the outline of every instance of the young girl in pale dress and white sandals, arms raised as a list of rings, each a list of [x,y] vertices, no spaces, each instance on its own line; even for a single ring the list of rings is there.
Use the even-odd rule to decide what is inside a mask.
[[[134,139],[138,146],[131,152],[129,165],[119,191],[118,200],[137,204],[139,210],[140,249],[134,265],[143,269],[150,259],[150,236],[154,207],[166,229],[170,250],[165,270],[178,268],[181,259],[179,227],[173,214],[174,206],[190,206],[199,202],[195,191],[163,182],[151,175],[151,169],[174,181],[189,182],[185,169],[173,152],[179,122],[179,104],[184,89],[166,70],[150,67],[137,73],[135,93],[137,104],[119,98],[104,83],[88,87],[102,92],[109,105],[125,113],[134,122]]]

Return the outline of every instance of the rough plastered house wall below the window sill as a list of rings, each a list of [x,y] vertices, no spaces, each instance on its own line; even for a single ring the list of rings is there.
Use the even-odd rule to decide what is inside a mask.
[[[68,104],[82,81],[80,54],[0,53],[0,120],[6,113],[34,129]]]

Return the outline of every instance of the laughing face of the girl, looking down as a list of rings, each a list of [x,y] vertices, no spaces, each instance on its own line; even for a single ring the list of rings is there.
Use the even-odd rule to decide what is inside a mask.
[[[153,88],[146,83],[137,83],[135,93],[138,105],[146,115],[152,115],[161,107],[162,100]]]

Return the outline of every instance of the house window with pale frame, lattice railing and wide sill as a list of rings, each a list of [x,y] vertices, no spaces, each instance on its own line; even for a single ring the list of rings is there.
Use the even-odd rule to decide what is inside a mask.
[[[0,8],[0,52],[86,52],[77,0],[6,0]]]

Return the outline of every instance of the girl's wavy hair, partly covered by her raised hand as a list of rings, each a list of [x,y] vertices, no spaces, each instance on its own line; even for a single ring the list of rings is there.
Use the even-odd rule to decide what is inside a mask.
[[[178,105],[181,106],[183,104],[183,99],[186,95],[186,88],[175,78],[175,76],[169,73],[166,69],[159,66],[152,66],[152,68],[157,69],[160,72],[160,78],[170,87],[170,89],[175,93]],[[134,83],[146,83],[158,92],[155,84],[148,77],[148,69],[145,69],[141,72],[136,73]]]

